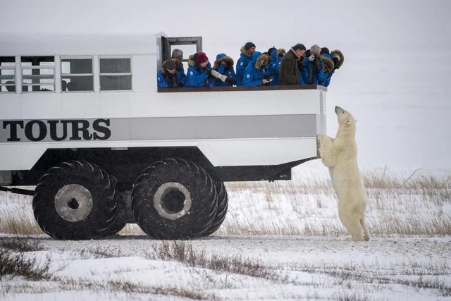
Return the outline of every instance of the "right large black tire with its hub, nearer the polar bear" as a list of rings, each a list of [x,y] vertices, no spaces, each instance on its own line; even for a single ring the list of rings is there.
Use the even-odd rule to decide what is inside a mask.
[[[204,169],[184,159],[157,161],[137,178],[132,210],[142,231],[156,239],[202,235],[217,211],[216,189]]]

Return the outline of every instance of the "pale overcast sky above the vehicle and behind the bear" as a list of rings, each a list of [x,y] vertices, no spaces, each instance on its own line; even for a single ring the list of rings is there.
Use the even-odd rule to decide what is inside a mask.
[[[340,49],[345,63],[328,91],[357,118],[366,168],[451,169],[451,1],[1,0],[1,34],[156,33],[202,36],[204,51],[237,59],[259,51]],[[221,4],[220,4],[221,3]]]

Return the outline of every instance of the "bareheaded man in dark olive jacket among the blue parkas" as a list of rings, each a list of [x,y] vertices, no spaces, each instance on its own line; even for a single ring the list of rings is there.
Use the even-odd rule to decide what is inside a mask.
[[[283,56],[280,62],[279,85],[299,85],[298,61],[304,57],[305,46],[296,44]]]

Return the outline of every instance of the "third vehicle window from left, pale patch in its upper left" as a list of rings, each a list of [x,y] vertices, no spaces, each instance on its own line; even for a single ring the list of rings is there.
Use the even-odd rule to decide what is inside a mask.
[[[61,91],[94,91],[92,58],[61,58]]]

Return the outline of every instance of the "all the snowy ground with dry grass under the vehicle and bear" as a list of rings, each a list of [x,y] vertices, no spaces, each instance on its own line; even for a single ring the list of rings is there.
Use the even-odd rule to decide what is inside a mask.
[[[366,175],[369,242],[345,240],[323,174],[228,183],[223,226],[192,242],[151,240],[135,226],[52,240],[30,198],[4,193],[0,257],[10,250],[44,272],[3,276],[0,300],[451,300],[449,175],[409,176]]]

